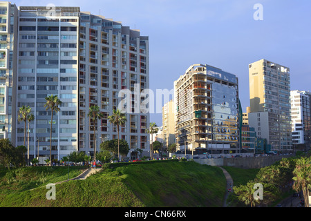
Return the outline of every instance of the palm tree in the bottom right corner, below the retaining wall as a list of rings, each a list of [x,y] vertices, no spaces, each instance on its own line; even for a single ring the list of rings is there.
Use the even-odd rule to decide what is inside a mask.
[[[294,169],[294,185],[296,191],[303,191],[305,207],[309,206],[309,190],[311,189],[311,157],[301,157],[296,160]]]

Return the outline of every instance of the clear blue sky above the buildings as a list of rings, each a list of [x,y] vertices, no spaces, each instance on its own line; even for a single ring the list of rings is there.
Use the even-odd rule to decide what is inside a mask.
[[[17,6],[79,6],[149,36],[150,88],[173,88],[191,64],[238,76],[243,111],[249,106],[248,64],[267,59],[288,66],[291,90],[311,90],[310,0],[12,1]],[[253,9],[263,5],[263,21]],[[162,125],[162,114],[151,114]]]

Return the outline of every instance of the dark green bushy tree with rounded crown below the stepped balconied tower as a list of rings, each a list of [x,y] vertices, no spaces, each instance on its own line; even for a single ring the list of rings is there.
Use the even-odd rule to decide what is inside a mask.
[[[126,140],[106,140],[100,144],[100,150],[111,151],[114,155],[127,155],[129,153],[129,144]]]

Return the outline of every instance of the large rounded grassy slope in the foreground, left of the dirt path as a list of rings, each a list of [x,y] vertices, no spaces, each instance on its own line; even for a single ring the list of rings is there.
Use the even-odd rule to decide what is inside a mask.
[[[64,179],[66,180],[66,179]],[[86,180],[56,185],[56,200],[46,186],[2,194],[0,206],[165,207],[222,206],[226,181],[214,166],[162,161],[104,169]]]

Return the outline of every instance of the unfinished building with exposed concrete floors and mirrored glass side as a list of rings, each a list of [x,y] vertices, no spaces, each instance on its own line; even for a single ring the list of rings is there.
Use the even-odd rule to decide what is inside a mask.
[[[191,65],[174,81],[175,133],[180,151],[239,153],[238,78]]]

